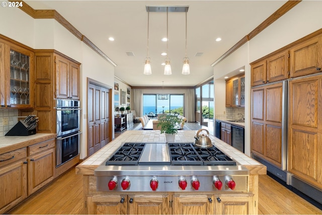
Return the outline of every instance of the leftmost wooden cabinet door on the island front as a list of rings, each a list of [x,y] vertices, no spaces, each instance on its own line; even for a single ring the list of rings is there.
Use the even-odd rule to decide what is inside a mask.
[[[124,199],[123,203],[121,202]],[[87,197],[88,214],[128,214],[127,196],[95,195]]]

